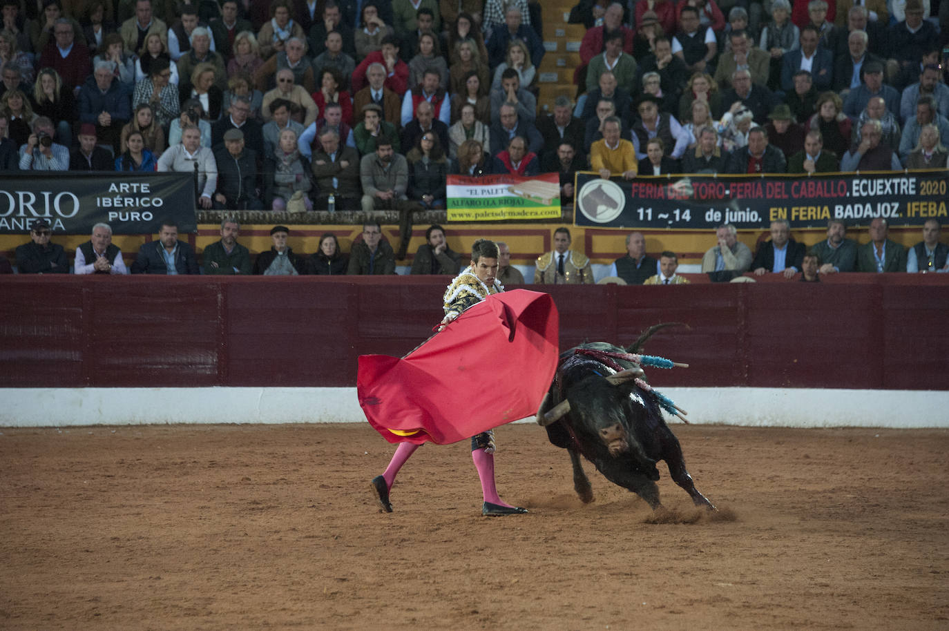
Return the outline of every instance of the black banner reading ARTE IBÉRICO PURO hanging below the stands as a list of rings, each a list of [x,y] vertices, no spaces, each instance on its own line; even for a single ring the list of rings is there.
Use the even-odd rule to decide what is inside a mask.
[[[89,234],[104,222],[113,234],[151,234],[162,221],[196,232],[195,176],[188,173],[26,171],[0,176],[0,234],[29,232],[43,218],[54,234]]]

